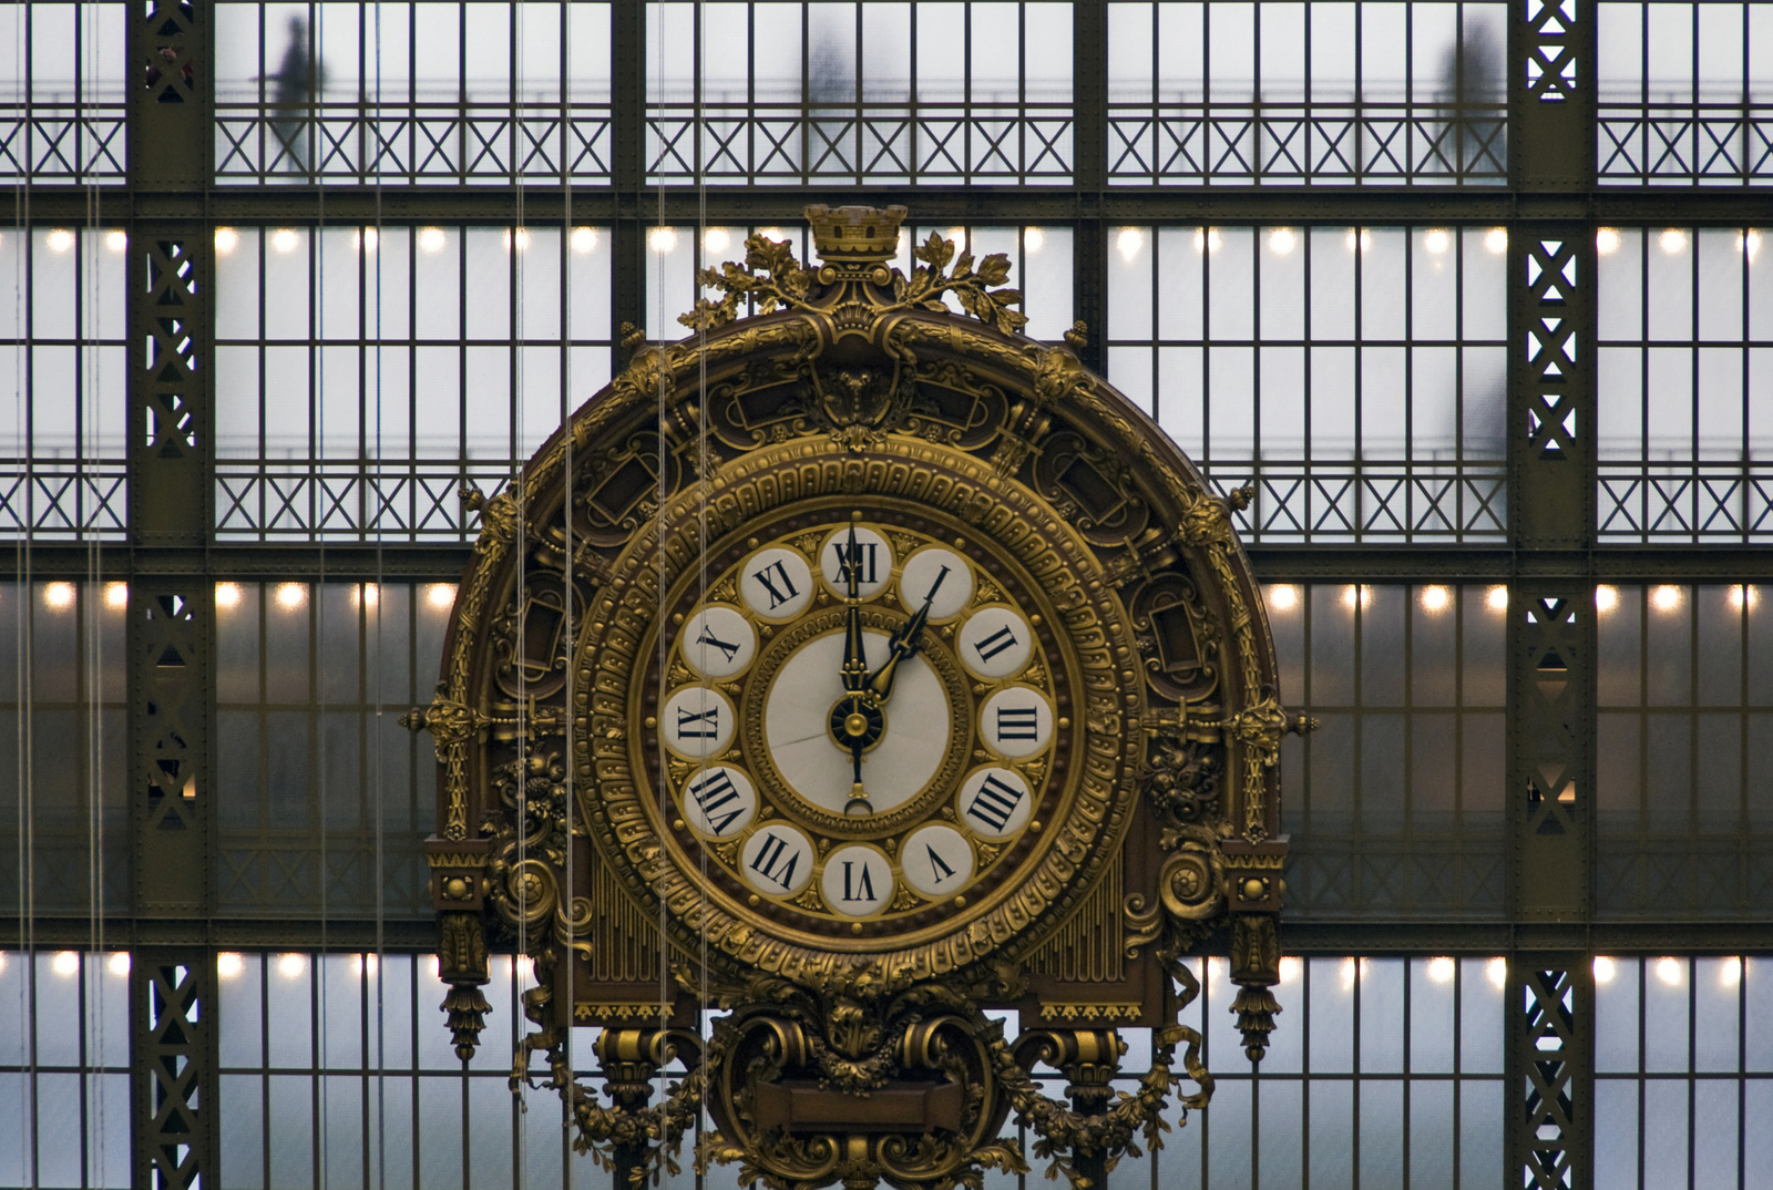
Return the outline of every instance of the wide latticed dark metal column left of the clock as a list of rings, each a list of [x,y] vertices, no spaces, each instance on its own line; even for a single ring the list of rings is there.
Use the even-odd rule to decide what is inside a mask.
[[[215,303],[206,192],[209,4],[137,5],[128,28],[129,184],[129,972],[133,1176],[218,1179],[211,805]]]

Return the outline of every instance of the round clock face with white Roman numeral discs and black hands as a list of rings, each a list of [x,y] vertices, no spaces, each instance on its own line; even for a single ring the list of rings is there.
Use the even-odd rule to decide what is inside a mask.
[[[1053,608],[977,532],[895,502],[787,513],[670,615],[668,837],[748,906],[929,926],[1028,858],[1071,764]]]

